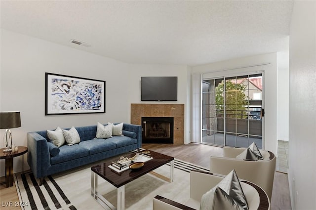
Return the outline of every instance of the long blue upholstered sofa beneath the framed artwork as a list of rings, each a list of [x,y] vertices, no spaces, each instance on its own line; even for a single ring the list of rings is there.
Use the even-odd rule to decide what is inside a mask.
[[[47,175],[138,149],[142,143],[141,126],[124,123],[124,136],[107,139],[95,138],[96,125],[76,129],[80,136],[79,144],[59,148],[48,141],[46,130],[28,132],[28,164],[35,177],[40,178],[40,185]]]

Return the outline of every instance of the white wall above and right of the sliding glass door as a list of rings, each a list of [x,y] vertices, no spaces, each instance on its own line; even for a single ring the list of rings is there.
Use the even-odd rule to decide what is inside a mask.
[[[255,73],[264,70],[264,97],[265,97],[265,119],[264,119],[264,149],[270,150],[277,155],[277,62],[276,53],[269,53],[264,55],[256,55],[250,57],[243,57],[227,61],[221,61],[192,68],[192,74],[202,74],[203,78],[212,78],[219,76],[234,76],[243,73]],[[266,65],[260,65],[266,64]],[[253,66],[259,65],[259,66]],[[249,68],[241,68],[246,66],[253,66]],[[194,77],[194,76],[193,76]],[[196,78],[196,77],[195,77]],[[192,88],[199,88],[200,86],[192,86]],[[195,92],[195,90],[193,90]],[[192,106],[193,112],[198,112]],[[199,124],[200,119],[193,119],[194,124]],[[196,126],[198,127],[198,126]],[[200,132],[194,130],[194,132]],[[193,136],[197,136],[193,133]]]

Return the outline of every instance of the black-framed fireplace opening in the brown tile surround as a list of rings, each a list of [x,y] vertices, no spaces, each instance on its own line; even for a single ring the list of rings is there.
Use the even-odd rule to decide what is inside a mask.
[[[142,143],[173,144],[173,118],[142,117]]]

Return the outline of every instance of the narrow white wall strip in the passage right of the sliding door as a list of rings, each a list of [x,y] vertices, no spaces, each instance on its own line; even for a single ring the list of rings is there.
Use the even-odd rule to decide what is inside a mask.
[[[289,52],[277,52],[277,139],[288,141]]]

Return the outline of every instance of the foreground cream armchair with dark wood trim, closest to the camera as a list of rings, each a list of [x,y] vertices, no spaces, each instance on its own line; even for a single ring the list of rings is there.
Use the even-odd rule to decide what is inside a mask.
[[[158,195],[153,199],[153,210],[198,210],[202,195],[217,185],[223,178],[222,175],[191,171],[190,199],[184,204],[180,204]],[[240,185],[249,210],[270,210],[270,200],[265,191],[258,185],[245,180],[240,180]]]

